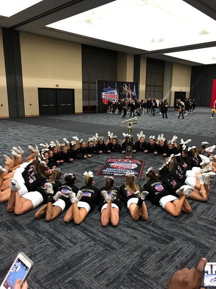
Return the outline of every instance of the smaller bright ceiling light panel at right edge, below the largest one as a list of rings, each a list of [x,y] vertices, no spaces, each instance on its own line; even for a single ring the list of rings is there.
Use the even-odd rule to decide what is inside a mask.
[[[179,52],[164,53],[164,55],[189,60],[202,64],[216,64],[216,47],[207,47]]]

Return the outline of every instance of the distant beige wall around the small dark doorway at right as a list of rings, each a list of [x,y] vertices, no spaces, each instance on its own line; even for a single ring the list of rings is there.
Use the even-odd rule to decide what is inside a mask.
[[[173,106],[175,91],[186,91],[186,98],[190,95],[191,66],[173,63],[173,73],[171,79],[171,100]]]

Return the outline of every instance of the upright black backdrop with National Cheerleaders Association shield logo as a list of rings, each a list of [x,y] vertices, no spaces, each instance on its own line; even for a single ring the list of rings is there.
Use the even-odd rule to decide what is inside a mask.
[[[105,81],[97,80],[97,105],[98,113],[107,112],[107,103],[110,99],[114,104],[121,98],[138,98],[138,82]]]

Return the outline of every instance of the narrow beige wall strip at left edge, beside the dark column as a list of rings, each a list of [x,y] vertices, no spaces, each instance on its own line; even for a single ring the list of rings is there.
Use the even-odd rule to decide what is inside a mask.
[[[1,106],[2,105],[2,106]],[[9,117],[2,30],[0,27],[0,118]]]

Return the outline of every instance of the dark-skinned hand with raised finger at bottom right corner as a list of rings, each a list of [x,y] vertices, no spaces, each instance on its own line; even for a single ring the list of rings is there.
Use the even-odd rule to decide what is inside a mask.
[[[200,289],[207,260],[202,258],[196,268],[176,271],[170,278],[167,289]]]

